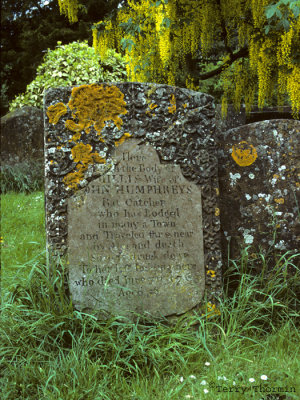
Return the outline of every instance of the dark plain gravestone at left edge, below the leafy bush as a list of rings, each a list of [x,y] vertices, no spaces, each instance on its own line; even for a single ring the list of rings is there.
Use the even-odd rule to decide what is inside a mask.
[[[14,164],[43,159],[43,111],[23,107],[1,118],[1,161]]]

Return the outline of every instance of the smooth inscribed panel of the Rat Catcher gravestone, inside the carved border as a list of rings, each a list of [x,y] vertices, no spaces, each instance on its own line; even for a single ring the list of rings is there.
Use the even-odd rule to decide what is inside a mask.
[[[201,301],[201,190],[130,139],[112,166],[68,200],[73,302],[113,314],[182,314]]]

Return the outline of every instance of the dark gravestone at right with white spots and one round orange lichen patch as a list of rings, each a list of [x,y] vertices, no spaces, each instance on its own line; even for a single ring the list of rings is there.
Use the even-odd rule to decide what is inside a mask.
[[[227,257],[299,250],[300,122],[256,122],[218,133],[222,247]]]

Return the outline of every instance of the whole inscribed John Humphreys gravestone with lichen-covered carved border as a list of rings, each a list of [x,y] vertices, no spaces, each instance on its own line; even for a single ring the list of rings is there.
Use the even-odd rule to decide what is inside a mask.
[[[221,251],[212,97],[93,84],[45,96],[50,258],[99,317],[217,312]]]

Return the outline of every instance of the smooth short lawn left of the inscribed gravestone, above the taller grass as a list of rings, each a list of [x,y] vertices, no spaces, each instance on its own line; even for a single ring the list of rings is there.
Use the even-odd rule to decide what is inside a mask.
[[[5,291],[23,282],[33,265],[45,263],[43,192],[1,196],[1,237],[1,289]]]

